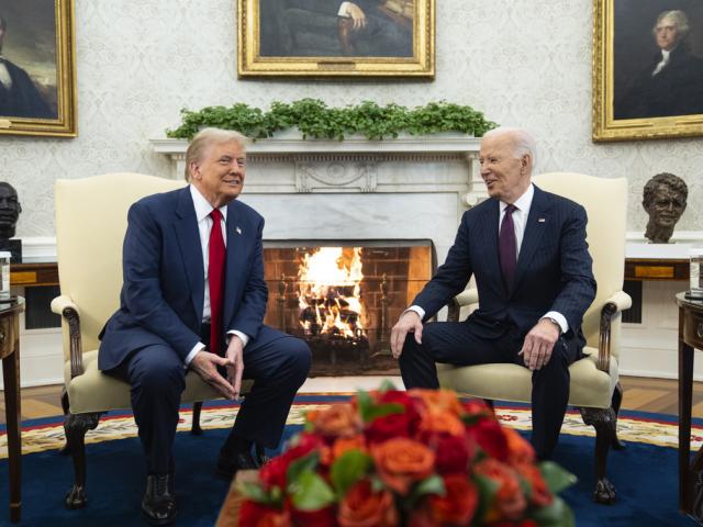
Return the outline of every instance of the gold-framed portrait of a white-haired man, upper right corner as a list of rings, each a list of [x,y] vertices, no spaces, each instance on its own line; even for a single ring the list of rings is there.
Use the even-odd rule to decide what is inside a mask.
[[[703,2],[594,0],[593,141],[703,135]]]

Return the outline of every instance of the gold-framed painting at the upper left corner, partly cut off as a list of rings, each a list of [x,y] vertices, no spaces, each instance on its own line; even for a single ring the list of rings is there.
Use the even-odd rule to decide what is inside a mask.
[[[74,0],[0,0],[0,134],[76,136]]]

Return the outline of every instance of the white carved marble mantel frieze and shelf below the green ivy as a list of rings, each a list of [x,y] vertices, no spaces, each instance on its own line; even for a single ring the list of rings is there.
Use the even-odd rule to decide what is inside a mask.
[[[486,198],[478,168],[480,138],[462,134],[383,141],[303,139],[286,132],[247,148],[247,193],[453,192],[462,206]],[[150,139],[185,170],[185,139]]]

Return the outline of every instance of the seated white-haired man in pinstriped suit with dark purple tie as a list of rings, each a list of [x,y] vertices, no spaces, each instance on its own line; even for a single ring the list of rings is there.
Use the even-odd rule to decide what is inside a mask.
[[[490,199],[464,214],[454,246],[391,333],[405,388],[438,388],[435,362],[516,362],[533,371],[537,456],[557,444],[569,400],[569,365],[585,340],[595,298],[584,209],[531,181],[535,146],[518,128],[483,136],[481,177]],[[465,322],[424,324],[473,276],[479,309]]]

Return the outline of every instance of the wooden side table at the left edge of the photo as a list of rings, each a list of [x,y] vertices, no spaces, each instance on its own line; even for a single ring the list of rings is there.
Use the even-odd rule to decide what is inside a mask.
[[[4,380],[4,404],[8,423],[8,461],[10,464],[10,520],[19,522],[22,498],[22,438],[20,431],[20,313],[21,296],[0,301],[0,358]]]

